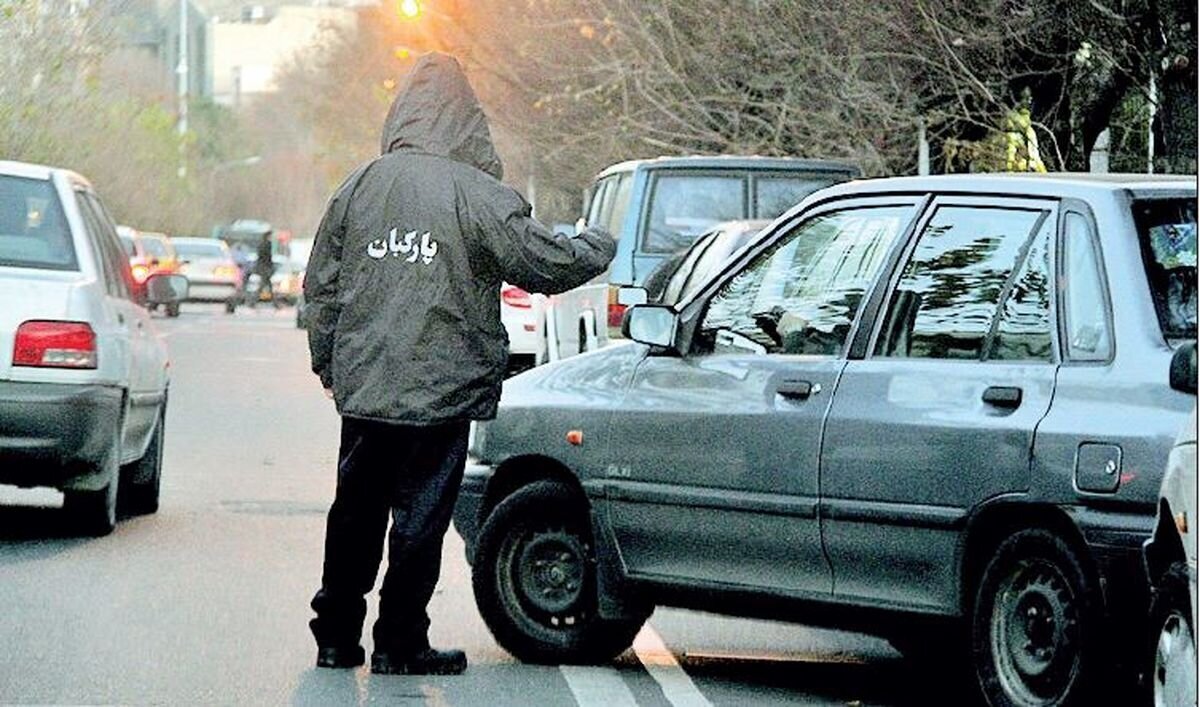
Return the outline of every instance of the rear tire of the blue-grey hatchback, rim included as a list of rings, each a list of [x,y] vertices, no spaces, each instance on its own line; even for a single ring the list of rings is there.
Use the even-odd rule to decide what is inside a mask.
[[[1104,676],[1098,593],[1076,552],[1045,529],[1000,544],[971,613],[974,673],[995,707],[1090,703]]]

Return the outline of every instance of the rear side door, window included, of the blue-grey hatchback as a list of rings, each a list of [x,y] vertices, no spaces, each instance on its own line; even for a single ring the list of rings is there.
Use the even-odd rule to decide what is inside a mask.
[[[1050,200],[942,197],[926,211],[829,413],[821,515],[835,594],[953,610],[967,514],[1028,489],[1057,361],[1056,222]]]

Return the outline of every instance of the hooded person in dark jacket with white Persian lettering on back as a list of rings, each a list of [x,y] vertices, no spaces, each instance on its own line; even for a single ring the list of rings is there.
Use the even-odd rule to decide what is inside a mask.
[[[458,62],[420,58],[384,126],[382,156],[334,194],[305,276],[312,370],[342,415],[317,665],[362,664],[365,595],[388,533],[372,672],[457,673],[430,647],[440,570],[472,420],[496,417],[508,336],[500,282],[565,292],[616,251],[596,228],[557,235],[500,184],[487,120]]]

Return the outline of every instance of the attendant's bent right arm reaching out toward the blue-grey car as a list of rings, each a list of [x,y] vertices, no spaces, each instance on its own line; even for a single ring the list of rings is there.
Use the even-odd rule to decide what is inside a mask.
[[[562,235],[532,216],[529,203],[516,191],[494,185],[473,209],[475,224],[500,269],[500,277],[527,292],[557,294],[604,272],[617,253],[612,235],[589,227],[576,236]]]

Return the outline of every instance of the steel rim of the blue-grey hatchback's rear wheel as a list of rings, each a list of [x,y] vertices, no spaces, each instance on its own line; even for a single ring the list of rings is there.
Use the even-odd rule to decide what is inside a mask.
[[[1046,562],[1022,562],[991,612],[996,676],[1015,703],[1056,705],[1079,673],[1079,611],[1067,579]]]

